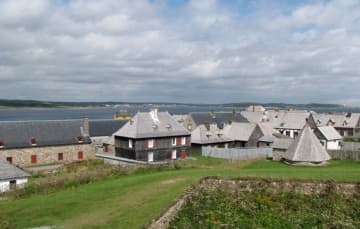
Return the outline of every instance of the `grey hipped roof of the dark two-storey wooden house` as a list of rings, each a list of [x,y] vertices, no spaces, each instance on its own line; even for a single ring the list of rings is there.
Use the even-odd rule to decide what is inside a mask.
[[[153,138],[185,136],[190,133],[175,121],[168,112],[138,112],[115,136],[127,138]]]

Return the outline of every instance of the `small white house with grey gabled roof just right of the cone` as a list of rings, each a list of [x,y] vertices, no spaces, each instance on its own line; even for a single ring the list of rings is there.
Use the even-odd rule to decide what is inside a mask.
[[[319,138],[321,144],[325,147],[325,149],[341,149],[341,141],[343,138],[333,126],[319,126],[315,129],[314,133]]]

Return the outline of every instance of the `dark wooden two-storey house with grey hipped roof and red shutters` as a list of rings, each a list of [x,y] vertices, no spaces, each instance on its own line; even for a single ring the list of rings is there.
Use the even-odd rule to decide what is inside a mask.
[[[190,153],[190,133],[168,112],[138,112],[114,133],[115,155],[139,161],[186,158]]]

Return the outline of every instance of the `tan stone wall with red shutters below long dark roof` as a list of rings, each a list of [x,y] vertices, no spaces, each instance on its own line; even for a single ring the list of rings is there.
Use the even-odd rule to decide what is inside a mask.
[[[78,152],[83,152],[83,159],[78,159]],[[63,160],[59,160],[59,153],[62,153]],[[31,155],[36,155],[36,164],[31,163]],[[95,147],[91,144],[31,147],[19,149],[1,149],[0,159],[12,158],[14,165],[24,167],[29,165],[41,165],[51,163],[70,163],[80,160],[95,158]]]

